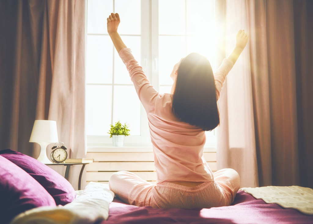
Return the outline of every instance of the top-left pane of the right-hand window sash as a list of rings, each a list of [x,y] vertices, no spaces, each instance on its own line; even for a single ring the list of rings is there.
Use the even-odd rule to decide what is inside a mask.
[[[185,1],[159,0],[159,34],[185,35]]]

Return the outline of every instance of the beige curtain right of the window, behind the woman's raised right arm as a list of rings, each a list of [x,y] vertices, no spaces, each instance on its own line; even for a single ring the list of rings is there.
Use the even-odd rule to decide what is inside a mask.
[[[308,172],[313,166],[305,158],[312,158],[309,99],[313,95],[303,81],[313,83],[312,39],[308,38],[312,31],[305,30],[312,21],[306,8],[309,5],[309,1],[288,0],[216,1],[222,28],[219,35],[223,37],[217,63],[231,52],[239,29],[250,36],[223,87],[217,131],[218,169],[237,170],[241,187],[313,187]],[[302,42],[295,41],[299,36]],[[295,57],[298,48],[301,62]]]

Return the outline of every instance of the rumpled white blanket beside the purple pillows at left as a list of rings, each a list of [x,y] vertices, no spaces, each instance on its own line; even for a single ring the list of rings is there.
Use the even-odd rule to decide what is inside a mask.
[[[91,224],[106,220],[114,193],[108,184],[90,182],[65,206],[42,206],[16,216],[11,224]]]

